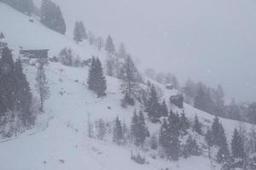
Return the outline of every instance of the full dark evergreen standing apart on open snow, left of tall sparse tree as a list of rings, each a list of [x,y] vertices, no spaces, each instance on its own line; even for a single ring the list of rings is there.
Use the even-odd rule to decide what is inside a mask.
[[[87,80],[88,87],[90,90],[94,91],[98,97],[105,96],[105,91],[107,89],[106,78],[103,75],[102,63],[98,58],[91,59],[89,77]]]

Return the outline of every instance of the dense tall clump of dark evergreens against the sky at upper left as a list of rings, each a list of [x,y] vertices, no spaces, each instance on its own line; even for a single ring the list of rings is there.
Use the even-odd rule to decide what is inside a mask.
[[[61,8],[50,0],[43,0],[41,4],[41,23],[53,31],[65,34],[66,23],[61,13]]]

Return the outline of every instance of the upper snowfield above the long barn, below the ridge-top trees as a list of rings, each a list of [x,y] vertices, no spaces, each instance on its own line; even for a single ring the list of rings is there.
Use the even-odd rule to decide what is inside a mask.
[[[49,55],[58,54],[62,48],[73,48],[81,58],[89,59],[91,55],[101,56],[96,48],[91,48],[87,43],[83,47],[75,44],[72,39],[64,37],[55,31],[43,26],[37,18],[29,17],[0,3],[0,31],[4,32],[9,47],[18,53],[20,47],[47,48]],[[29,20],[33,20],[33,22]]]

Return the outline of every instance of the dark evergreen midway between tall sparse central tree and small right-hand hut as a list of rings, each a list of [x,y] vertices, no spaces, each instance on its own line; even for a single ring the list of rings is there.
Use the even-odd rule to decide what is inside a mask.
[[[146,111],[151,122],[160,122],[160,104],[159,97],[154,88],[154,85],[150,88],[149,99],[146,105]]]

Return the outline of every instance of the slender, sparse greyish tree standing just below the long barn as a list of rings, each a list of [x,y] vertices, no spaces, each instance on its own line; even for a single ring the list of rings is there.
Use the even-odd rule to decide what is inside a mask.
[[[40,97],[40,111],[44,111],[44,101],[49,98],[49,87],[45,76],[44,64],[39,63],[36,77],[36,89]]]

